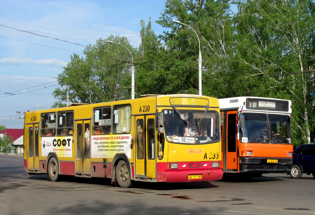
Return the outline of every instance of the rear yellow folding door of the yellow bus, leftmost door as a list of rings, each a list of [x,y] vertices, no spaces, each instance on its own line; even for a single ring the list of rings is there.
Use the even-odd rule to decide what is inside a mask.
[[[27,169],[39,171],[38,124],[27,125]]]

